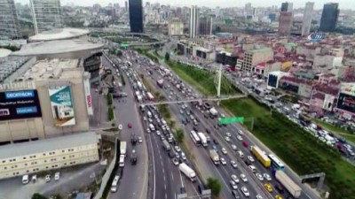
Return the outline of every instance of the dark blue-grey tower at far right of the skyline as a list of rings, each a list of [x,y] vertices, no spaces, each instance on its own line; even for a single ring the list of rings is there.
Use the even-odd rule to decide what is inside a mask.
[[[320,19],[319,30],[323,32],[334,32],[336,22],[338,20],[339,9],[338,4],[329,3],[324,4],[322,16]]]

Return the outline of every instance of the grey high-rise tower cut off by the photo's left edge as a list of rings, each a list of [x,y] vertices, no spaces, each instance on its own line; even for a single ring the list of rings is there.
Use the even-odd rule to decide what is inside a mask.
[[[0,0],[0,40],[20,37],[20,24],[13,0]]]

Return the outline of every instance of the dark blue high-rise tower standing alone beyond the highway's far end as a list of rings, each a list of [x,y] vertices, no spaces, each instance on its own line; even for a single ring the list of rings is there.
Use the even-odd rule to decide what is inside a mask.
[[[143,7],[142,0],[129,0],[130,32],[143,33]]]

